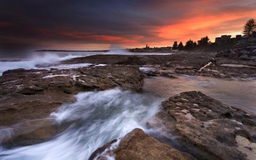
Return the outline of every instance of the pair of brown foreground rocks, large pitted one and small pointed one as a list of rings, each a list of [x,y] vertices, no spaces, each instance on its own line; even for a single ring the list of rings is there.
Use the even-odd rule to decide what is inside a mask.
[[[201,92],[182,92],[162,102],[161,110],[148,121],[148,126],[165,135],[165,139],[154,133],[156,140],[135,129],[121,139],[119,146],[106,151],[116,140],[107,143],[94,151],[91,159],[97,154],[98,159],[115,156],[116,159],[253,160],[256,157],[256,116],[223,105]],[[178,138],[168,139],[173,136]]]

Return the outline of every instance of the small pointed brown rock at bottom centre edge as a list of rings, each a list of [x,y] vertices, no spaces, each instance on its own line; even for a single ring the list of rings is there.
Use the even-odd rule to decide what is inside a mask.
[[[89,159],[107,159],[114,156],[116,159],[195,159],[187,153],[159,142],[141,129],[134,129],[121,139],[117,148],[109,149],[108,147],[114,142],[107,143],[94,151]],[[109,150],[106,150],[107,148]],[[106,153],[97,157],[97,154],[101,154],[104,150]]]

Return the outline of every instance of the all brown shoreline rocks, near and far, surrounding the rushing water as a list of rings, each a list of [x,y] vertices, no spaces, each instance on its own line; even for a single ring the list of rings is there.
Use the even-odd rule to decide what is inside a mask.
[[[74,95],[78,92],[115,87],[139,92],[143,78],[150,76],[176,78],[177,74],[185,74],[245,80],[256,77],[254,60],[204,52],[92,55],[61,62],[77,63],[94,65],[14,69],[0,76],[0,143],[26,146],[49,140],[65,130],[69,124],[60,128],[52,123],[54,119],[47,117],[62,104],[75,102]],[[151,69],[142,73],[140,67]],[[15,132],[18,124],[28,130]],[[174,145],[172,139],[163,140],[158,135],[134,129],[124,138],[95,150],[90,159],[253,159],[256,156],[256,116],[223,105],[201,92],[182,92],[162,102],[162,108],[147,126],[160,129],[161,136],[178,137],[179,145]]]

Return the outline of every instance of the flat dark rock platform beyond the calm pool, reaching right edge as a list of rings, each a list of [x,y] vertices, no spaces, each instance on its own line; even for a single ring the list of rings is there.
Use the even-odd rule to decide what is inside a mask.
[[[255,78],[256,61],[215,57],[213,52],[177,52],[171,55],[92,55],[63,61],[65,64],[93,63],[135,65],[155,68],[146,75],[175,78],[175,74],[217,78]],[[219,54],[219,53],[218,53]],[[206,66],[207,63],[211,65]],[[234,66],[235,65],[235,66]],[[237,65],[239,67],[237,67]]]

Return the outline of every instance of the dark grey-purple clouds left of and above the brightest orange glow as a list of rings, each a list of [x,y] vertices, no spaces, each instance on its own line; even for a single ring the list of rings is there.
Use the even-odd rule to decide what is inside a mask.
[[[159,28],[202,15],[255,10],[254,1],[4,0],[0,47],[53,47],[56,43],[164,42]]]

